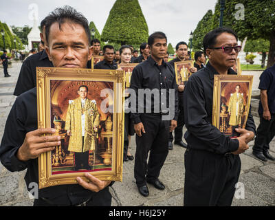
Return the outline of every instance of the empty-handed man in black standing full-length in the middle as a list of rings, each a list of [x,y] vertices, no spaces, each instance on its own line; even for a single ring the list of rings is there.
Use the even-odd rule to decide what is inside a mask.
[[[168,133],[177,126],[178,107],[175,73],[163,60],[167,51],[166,35],[151,34],[148,45],[151,56],[137,65],[131,76],[131,89],[135,91],[131,97],[136,98],[136,106],[131,104],[131,118],[137,133],[134,173],[138,190],[144,197],[149,195],[146,181],[157,189],[165,188],[158,177],[168,155]],[[147,164],[148,151],[151,153]]]

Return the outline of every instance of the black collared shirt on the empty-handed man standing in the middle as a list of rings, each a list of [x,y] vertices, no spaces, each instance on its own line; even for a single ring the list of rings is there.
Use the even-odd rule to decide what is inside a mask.
[[[177,120],[177,83],[175,79],[175,72],[171,65],[165,63],[164,61],[162,61],[162,65],[157,65],[153,58],[151,58],[151,56],[148,56],[148,59],[146,61],[140,63],[133,69],[133,73],[131,76],[131,89],[135,91],[137,103],[136,109],[133,109],[133,111],[135,112],[131,111],[131,118],[133,118],[135,124],[141,122],[141,112],[139,113],[138,111],[140,106],[143,106],[143,113],[148,113],[148,109],[151,109],[151,113],[159,113],[159,111],[175,111],[174,120]],[[156,89],[159,97],[147,96],[146,98],[146,95],[144,94],[144,102],[141,103],[139,102],[139,89],[141,89],[142,91],[144,91],[144,89],[148,89],[149,91]],[[166,89],[166,91],[162,91],[162,89]],[[173,92],[175,93],[175,103],[173,104],[173,107],[175,107],[175,109],[173,109],[173,107],[169,104],[169,89],[173,89]],[[166,104],[163,101],[163,98],[165,97],[164,92],[166,92]],[[149,101],[151,101],[151,103],[148,104]]]

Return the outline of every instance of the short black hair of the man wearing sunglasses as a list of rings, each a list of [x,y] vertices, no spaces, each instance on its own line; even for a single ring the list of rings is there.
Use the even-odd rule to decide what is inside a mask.
[[[231,28],[215,28],[214,30],[208,32],[203,38],[203,50],[205,53],[207,49],[214,47],[217,37],[223,33],[234,35],[236,41],[238,41],[238,36],[236,36],[236,33]]]

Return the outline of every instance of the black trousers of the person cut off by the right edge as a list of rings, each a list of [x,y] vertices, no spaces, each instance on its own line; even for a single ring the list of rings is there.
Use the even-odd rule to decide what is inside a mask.
[[[270,142],[275,136],[275,114],[271,114],[271,120],[265,120],[263,115],[260,115],[260,124],[256,131],[253,151],[255,153],[263,153],[270,149]]]

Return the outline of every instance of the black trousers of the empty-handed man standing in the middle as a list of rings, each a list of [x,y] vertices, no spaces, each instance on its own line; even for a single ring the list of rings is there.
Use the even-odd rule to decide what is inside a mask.
[[[168,134],[170,121],[162,120],[162,115],[140,114],[145,133],[135,135],[136,151],[134,175],[138,187],[146,184],[146,179],[154,181],[168,155]],[[147,164],[148,152],[150,157]]]

